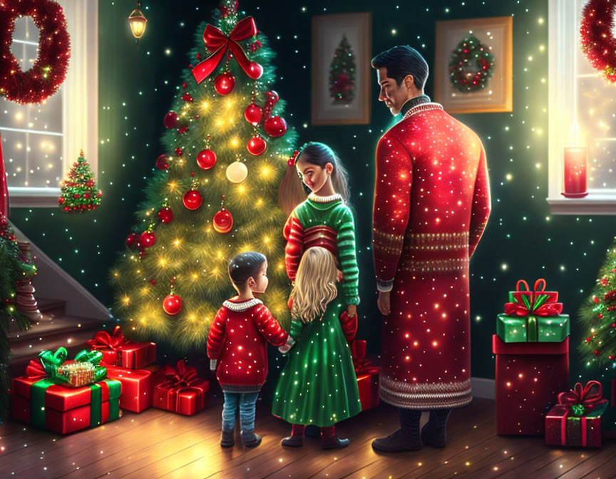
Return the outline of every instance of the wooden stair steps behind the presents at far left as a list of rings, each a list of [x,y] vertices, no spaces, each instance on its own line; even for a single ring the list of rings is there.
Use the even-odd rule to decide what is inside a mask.
[[[28,331],[10,331],[11,364],[9,376],[14,378],[26,372],[30,359],[36,358],[43,349],[55,351],[60,346],[68,350],[71,359],[81,349],[86,349],[86,341],[92,339],[96,331],[104,325],[109,328],[110,321],[86,319],[66,314],[66,302],[57,299],[37,298],[43,319]]]

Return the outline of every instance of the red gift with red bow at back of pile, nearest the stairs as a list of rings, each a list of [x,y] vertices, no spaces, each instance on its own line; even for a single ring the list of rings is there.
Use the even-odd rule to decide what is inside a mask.
[[[156,361],[155,343],[136,343],[124,337],[120,326],[113,329],[113,334],[98,331],[94,339],[88,341],[91,349],[101,351],[101,366],[119,366],[128,369],[143,369]]]

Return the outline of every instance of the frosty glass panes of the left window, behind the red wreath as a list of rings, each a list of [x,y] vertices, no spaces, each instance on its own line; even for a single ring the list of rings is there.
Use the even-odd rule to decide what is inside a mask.
[[[39,29],[17,19],[11,52],[27,71],[36,61]],[[58,187],[62,167],[63,88],[41,104],[0,101],[0,133],[9,187]]]

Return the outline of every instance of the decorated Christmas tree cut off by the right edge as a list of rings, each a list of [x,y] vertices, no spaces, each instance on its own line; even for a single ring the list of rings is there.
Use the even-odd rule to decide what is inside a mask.
[[[587,366],[616,369],[616,242],[580,308],[580,319],[587,336],[578,349]]]

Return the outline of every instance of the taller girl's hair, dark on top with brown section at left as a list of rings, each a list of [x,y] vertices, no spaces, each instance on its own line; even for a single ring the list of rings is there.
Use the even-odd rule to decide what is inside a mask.
[[[305,161],[321,168],[325,168],[327,163],[332,163],[334,166],[334,171],[332,172],[334,191],[340,193],[345,202],[349,202],[349,175],[342,161],[340,161],[340,158],[338,158],[338,155],[332,148],[316,141],[306,143],[299,149],[296,164],[300,161]],[[287,172],[284,173],[278,190],[278,200],[284,213],[289,216],[294,208],[306,199],[307,192],[309,191],[308,187],[304,187],[296,168],[294,166],[287,168]]]

